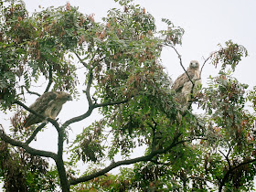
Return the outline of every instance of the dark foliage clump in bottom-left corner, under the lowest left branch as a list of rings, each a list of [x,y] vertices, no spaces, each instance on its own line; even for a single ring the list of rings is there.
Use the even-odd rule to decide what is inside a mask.
[[[6,191],[52,191],[57,187],[57,177],[48,170],[45,159],[16,150],[1,142],[1,176]]]

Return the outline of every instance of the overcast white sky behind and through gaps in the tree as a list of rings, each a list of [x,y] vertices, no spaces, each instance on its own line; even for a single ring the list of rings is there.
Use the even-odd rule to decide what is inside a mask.
[[[24,0],[24,2],[27,5],[27,10],[33,13],[35,9],[39,10],[38,5],[43,7],[59,6],[66,5],[68,1]],[[95,14],[96,21],[101,21],[101,17],[106,16],[107,10],[110,8],[118,7],[113,0],[69,0],[69,3],[79,6],[81,13]],[[248,49],[249,57],[240,62],[235,75],[240,81],[250,84],[251,87],[256,85],[255,0],[136,0],[135,3],[142,5],[146,11],[155,16],[158,29],[165,28],[165,24],[161,22],[162,17],[170,19],[176,26],[185,29],[183,46],[178,47],[178,50],[186,68],[192,59],[197,59],[199,63],[202,63],[202,57],[207,58],[209,53],[218,49],[217,44],[219,43],[224,45],[225,41],[232,39],[233,42],[243,45]],[[171,48],[165,48],[162,59],[172,79],[176,79],[183,72],[176,54]],[[216,72],[217,69],[207,65],[202,73],[203,84],[205,85],[204,82],[210,74],[216,74]],[[80,104],[76,104],[75,101],[69,102],[64,105],[59,119],[64,122],[65,118],[70,118],[70,112],[71,115],[79,115],[85,110],[84,107],[81,109]],[[3,116],[0,120],[2,123]],[[52,131],[48,131],[46,134],[44,133],[42,137],[38,136],[37,139],[43,142],[43,145],[39,142],[37,146],[55,151],[56,144],[51,141],[56,141],[56,134]],[[48,142],[46,143],[46,141]]]

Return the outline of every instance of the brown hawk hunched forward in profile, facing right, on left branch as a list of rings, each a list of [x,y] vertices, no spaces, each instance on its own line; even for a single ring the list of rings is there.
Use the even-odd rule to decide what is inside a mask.
[[[72,97],[69,93],[63,91],[49,91],[37,98],[29,108],[45,117],[55,119],[66,101],[72,101]],[[24,127],[27,128],[32,124],[41,123],[43,121],[43,119],[30,112],[24,122]]]

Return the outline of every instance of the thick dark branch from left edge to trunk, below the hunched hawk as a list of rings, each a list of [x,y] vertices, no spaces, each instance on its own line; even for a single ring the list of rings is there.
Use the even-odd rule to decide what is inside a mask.
[[[10,138],[9,136],[7,136],[5,134],[4,130],[0,130],[0,138],[3,141],[5,141],[5,143],[7,143],[7,144],[12,144],[14,146],[22,147],[23,149],[25,149],[27,151],[28,154],[50,157],[54,160],[56,160],[56,158],[57,158],[57,155],[52,152],[37,150],[37,149],[34,149],[34,148],[28,146],[28,144],[24,144],[22,142],[19,142],[19,141],[16,141],[16,140]]]

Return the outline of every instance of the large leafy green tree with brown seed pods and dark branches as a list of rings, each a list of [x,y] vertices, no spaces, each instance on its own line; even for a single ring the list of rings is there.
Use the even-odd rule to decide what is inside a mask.
[[[5,189],[252,188],[255,115],[246,104],[252,103],[254,110],[256,91],[246,92],[248,86],[231,75],[247,50],[230,40],[224,48],[219,45],[202,66],[220,65],[219,76],[210,77],[199,94],[192,91],[185,109],[176,102],[160,59],[162,49],[171,47],[184,69],[176,48],[184,30],[163,19],[167,30],[157,31],[154,17],[144,8],[129,0],[117,2],[121,8],[110,10],[101,23],[69,3],[29,16],[22,2],[1,2],[1,111],[14,114],[10,133],[3,125],[0,133]],[[84,95],[88,108],[80,116],[70,114],[62,124],[48,118],[26,130],[22,124],[27,112],[38,115],[25,104],[27,97],[43,93],[33,88],[44,79],[48,83],[43,92],[69,91],[78,99]],[[203,114],[194,112],[195,104]],[[86,121],[95,109],[102,119],[84,127],[65,149],[69,128]],[[47,123],[58,132],[57,153],[31,146]],[[145,154],[131,158],[133,149],[142,145]],[[64,150],[69,153],[66,161]],[[123,160],[116,161],[116,155]],[[80,161],[91,166],[81,176],[75,168]],[[122,165],[134,166],[118,176],[108,173]]]

